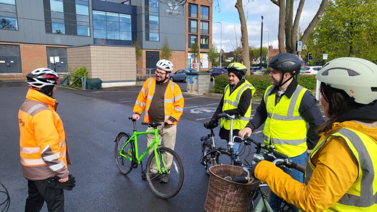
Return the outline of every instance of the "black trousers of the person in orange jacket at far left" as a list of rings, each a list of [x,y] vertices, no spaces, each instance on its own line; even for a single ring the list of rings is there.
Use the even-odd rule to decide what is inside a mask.
[[[49,212],[64,212],[64,191],[47,187],[48,180],[28,180],[29,196],[25,212],[39,212],[44,202],[47,203]]]

